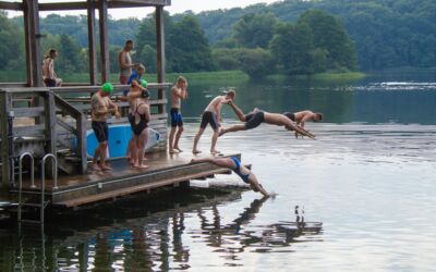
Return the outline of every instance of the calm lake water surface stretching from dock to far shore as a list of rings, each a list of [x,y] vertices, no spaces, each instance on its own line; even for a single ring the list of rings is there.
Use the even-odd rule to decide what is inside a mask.
[[[186,151],[204,107],[229,86],[244,111],[325,114],[307,124],[317,140],[266,124],[219,139],[218,149],[241,152],[276,197],[247,190],[235,175],[217,175],[190,189],[59,215],[44,230],[2,227],[0,270],[434,271],[435,77],[190,82]],[[237,123],[227,108],[223,118],[225,126]],[[209,139],[210,129],[203,151]],[[295,228],[295,211],[322,227]]]

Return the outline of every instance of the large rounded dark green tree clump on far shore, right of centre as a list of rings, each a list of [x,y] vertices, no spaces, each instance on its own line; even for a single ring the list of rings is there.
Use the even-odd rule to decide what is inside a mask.
[[[353,42],[339,21],[323,11],[307,11],[296,23],[279,26],[270,48],[290,74],[356,69]]]

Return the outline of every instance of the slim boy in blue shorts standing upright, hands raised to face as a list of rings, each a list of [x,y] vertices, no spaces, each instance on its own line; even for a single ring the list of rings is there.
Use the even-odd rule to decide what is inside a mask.
[[[177,84],[172,86],[170,100],[171,100],[171,131],[169,136],[169,149],[170,153],[182,152],[183,150],[179,147],[179,139],[183,132],[183,118],[180,112],[181,100],[187,98],[187,81],[183,76],[179,76]],[[175,128],[179,127],[177,134]],[[174,139],[175,134],[175,139]]]

